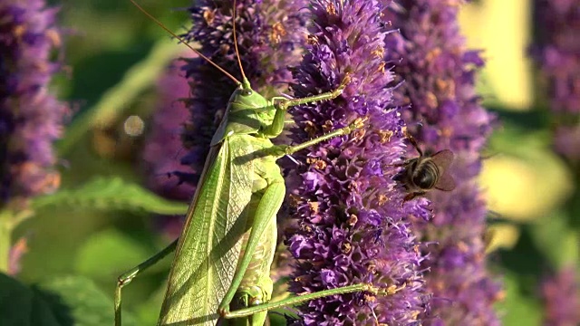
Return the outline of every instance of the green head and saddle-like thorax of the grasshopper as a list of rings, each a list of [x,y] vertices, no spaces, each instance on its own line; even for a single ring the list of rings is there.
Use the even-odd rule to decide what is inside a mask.
[[[274,115],[274,105],[252,90],[245,78],[229,98],[226,114],[211,139],[211,146],[232,134],[256,134],[272,123]]]

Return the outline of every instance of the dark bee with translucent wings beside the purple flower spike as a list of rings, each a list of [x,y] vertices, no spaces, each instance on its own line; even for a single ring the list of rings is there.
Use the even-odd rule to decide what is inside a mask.
[[[442,191],[455,189],[455,180],[448,170],[453,162],[453,152],[443,149],[433,155],[425,155],[411,134],[407,132],[405,134],[411,145],[419,152],[419,158],[411,158],[402,164],[395,165],[395,167],[405,168],[395,177],[405,185],[409,192],[403,202],[425,195],[432,188]]]

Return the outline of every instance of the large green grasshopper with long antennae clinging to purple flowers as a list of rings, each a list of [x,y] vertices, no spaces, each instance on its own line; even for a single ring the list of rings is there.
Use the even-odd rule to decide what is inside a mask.
[[[182,41],[134,0],[131,3]],[[233,34],[238,53],[235,24]],[[189,49],[198,53],[190,46]],[[275,161],[326,139],[348,135],[353,129],[362,128],[364,119],[295,146],[274,145],[270,139],[283,131],[286,109],[337,98],[350,81],[348,75],[330,92],[304,99],[266,100],[252,90],[239,55],[242,82],[203,54],[198,55],[226,73],[237,83],[237,89],[211,139],[179,239],[119,277],[115,325],[121,325],[121,288],[173,251],[175,258],[158,325],[215,325],[221,319],[234,319],[231,323],[261,326],[268,310],[339,293],[377,292],[371,284],[362,283],[268,302],[273,292],[270,267],[276,245],[275,216],[285,197],[284,178]],[[230,311],[230,305],[240,309]]]

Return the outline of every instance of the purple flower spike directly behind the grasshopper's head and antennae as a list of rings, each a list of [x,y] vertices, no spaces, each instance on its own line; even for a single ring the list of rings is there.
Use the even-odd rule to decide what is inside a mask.
[[[189,8],[193,27],[184,37],[201,44],[200,51],[241,81],[233,37],[233,3],[197,1]],[[292,75],[286,65],[300,60],[298,43],[304,38],[306,19],[299,11],[304,1],[237,1],[236,32],[239,57],[247,79],[262,95],[279,96]],[[191,96],[186,102],[190,119],[182,141],[187,154],[181,163],[200,170],[209,141],[235,90],[235,83],[200,58],[184,67],[190,79]],[[180,174],[184,182],[197,184],[198,174]]]

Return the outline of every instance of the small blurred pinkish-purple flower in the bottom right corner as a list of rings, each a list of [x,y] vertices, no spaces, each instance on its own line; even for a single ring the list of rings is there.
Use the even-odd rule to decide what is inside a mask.
[[[580,324],[580,284],[574,267],[567,267],[542,284],[546,326]]]

